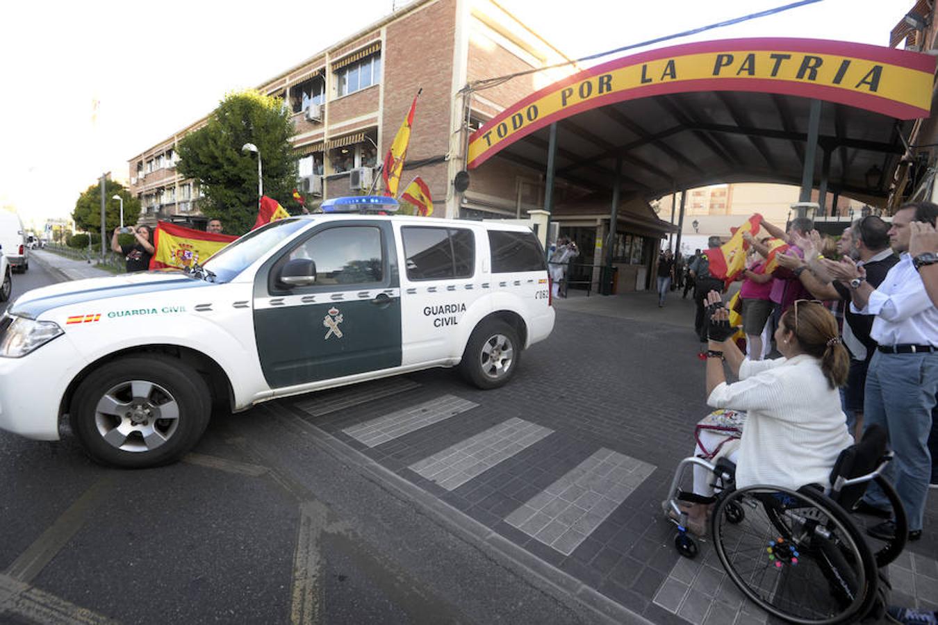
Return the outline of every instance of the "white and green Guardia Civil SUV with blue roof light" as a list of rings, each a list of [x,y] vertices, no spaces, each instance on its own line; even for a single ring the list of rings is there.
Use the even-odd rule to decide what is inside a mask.
[[[0,320],[0,428],[70,431],[99,461],[149,467],[185,454],[213,408],[434,366],[506,383],[553,328],[537,238],[362,210],[387,202],[326,201],[185,272],[23,294]]]

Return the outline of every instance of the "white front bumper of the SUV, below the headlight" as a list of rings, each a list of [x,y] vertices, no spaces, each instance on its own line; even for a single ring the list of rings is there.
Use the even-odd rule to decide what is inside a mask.
[[[58,336],[23,358],[0,358],[0,429],[27,439],[58,440],[59,406],[81,356]]]

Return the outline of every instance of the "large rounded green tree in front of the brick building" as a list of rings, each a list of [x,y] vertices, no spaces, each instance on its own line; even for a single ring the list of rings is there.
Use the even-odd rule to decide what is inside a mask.
[[[295,132],[290,112],[276,97],[257,91],[226,96],[208,123],[179,141],[179,173],[199,181],[201,210],[218,218],[225,232],[241,234],[257,219],[257,146],[264,170],[264,195],[291,207],[296,186],[296,156],[290,137]]]

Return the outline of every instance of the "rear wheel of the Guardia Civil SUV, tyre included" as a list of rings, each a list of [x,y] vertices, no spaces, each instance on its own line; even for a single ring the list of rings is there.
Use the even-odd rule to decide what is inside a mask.
[[[506,384],[518,368],[522,345],[518,333],[505,321],[480,323],[462,353],[463,377],[480,389]]]

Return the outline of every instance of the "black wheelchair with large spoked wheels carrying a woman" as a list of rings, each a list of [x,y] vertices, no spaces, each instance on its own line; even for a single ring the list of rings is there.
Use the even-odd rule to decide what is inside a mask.
[[[677,551],[694,558],[697,543],[688,535],[688,515],[678,501],[713,503],[709,530],[720,563],[735,586],[770,615],[792,623],[856,622],[874,607],[885,607],[888,582],[881,570],[900,555],[908,536],[899,496],[883,476],[891,460],[885,430],[876,426],[840,453],[827,489],[818,484],[797,490],[736,488],[729,460],[689,457],[675,470],[672,496],[662,508],[673,512]],[[694,465],[715,476],[713,497],[681,490],[686,469]],[[848,512],[870,482],[883,489],[896,522],[895,540],[876,547]]]

